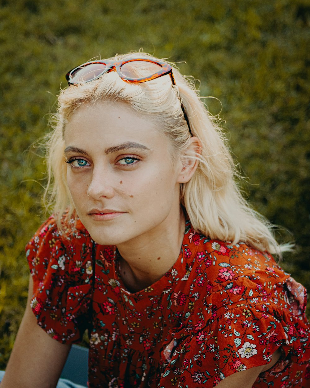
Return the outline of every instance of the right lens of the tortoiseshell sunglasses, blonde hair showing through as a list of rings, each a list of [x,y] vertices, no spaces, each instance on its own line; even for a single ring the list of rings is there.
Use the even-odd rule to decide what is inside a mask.
[[[160,73],[162,66],[148,61],[132,61],[121,66],[121,75],[124,78],[152,78]]]

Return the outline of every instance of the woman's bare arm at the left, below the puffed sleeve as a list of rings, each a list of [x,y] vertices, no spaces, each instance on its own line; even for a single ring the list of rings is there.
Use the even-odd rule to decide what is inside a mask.
[[[70,345],[53,340],[36,323],[30,307],[33,281],[1,388],[54,388],[67,359]]]

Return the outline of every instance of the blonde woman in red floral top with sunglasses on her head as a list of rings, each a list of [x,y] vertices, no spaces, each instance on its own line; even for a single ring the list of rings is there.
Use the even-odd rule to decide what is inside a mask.
[[[193,84],[144,53],[66,77],[3,388],[55,387],[86,328],[90,387],[309,386],[305,289]]]

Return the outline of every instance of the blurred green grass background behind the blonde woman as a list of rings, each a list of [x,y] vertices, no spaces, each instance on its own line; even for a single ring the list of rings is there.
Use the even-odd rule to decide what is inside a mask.
[[[309,1],[0,4],[0,368],[26,302],[24,245],[45,218],[45,165],[33,144],[48,131],[65,73],[98,55],[143,48],[182,62],[201,94],[220,100],[205,102],[225,120],[245,195],[284,228],[278,239],[296,242],[281,265],[310,290]]]

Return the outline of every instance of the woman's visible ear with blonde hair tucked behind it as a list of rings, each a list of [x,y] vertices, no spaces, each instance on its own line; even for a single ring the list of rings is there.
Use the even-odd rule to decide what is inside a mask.
[[[191,137],[188,147],[180,156],[182,170],[179,173],[177,183],[186,183],[191,179],[196,171],[196,168],[198,167],[198,160],[195,158],[195,156],[197,157],[200,155],[201,151],[201,141],[196,136]]]

